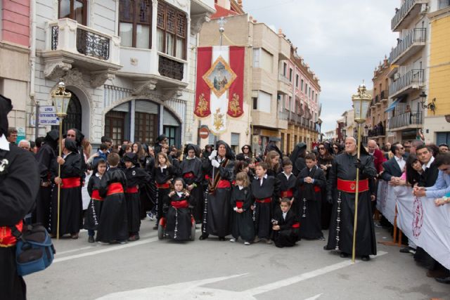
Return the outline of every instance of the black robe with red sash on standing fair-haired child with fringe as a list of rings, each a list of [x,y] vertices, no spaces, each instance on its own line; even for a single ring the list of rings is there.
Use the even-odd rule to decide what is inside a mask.
[[[238,204],[236,204],[238,202]],[[255,239],[255,224],[253,223],[252,193],[250,188],[243,188],[233,186],[231,194],[231,235],[235,239],[241,237],[245,242],[252,242]],[[243,209],[242,213],[235,211],[238,206]]]

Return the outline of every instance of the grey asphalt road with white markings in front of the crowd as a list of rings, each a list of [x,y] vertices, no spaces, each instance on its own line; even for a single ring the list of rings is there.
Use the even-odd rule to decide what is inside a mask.
[[[28,299],[450,299],[450,285],[398,247],[378,244],[371,261],[352,264],[323,251],[326,242],[160,241],[153,225],[143,221],[141,240],[123,245],[89,244],[86,232],[54,241],[53,264],[25,278]]]

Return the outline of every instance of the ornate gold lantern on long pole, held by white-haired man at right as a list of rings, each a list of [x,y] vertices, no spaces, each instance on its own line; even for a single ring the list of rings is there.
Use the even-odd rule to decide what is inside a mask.
[[[354,109],[354,122],[358,124],[357,131],[357,158],[360,157],[359,148],[361,148],[361,124],[366,122],[368,107],[371,105],[372,96],[367,93],[366,85],[363,83],[358,87],[358,92],[352,96]],[[353,250],[352,262],[354,262],[356,249],[356,225],[358,223],[358,195],[359,195],[359,169],[356,168],[356,187],[354,197],[354,224],[353,224]]]

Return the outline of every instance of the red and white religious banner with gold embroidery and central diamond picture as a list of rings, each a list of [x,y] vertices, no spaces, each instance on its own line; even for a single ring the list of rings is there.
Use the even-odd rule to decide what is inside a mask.
[[[214,134],[226,131],[226,116],[243,115],[245,48],[198,48],[194,114],[210,117]]]

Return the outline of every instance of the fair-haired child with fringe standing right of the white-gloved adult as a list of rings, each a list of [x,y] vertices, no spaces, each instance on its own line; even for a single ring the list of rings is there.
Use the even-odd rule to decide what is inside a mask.
[[[236,185],[231,194],[231,238],[230,242],[236,242],[238,237],[244,240],[244,244],[250,245],[255,239],[255,225],[253,224],[252,195],[248,185],[250,180],[245,171],[236,174]]]

